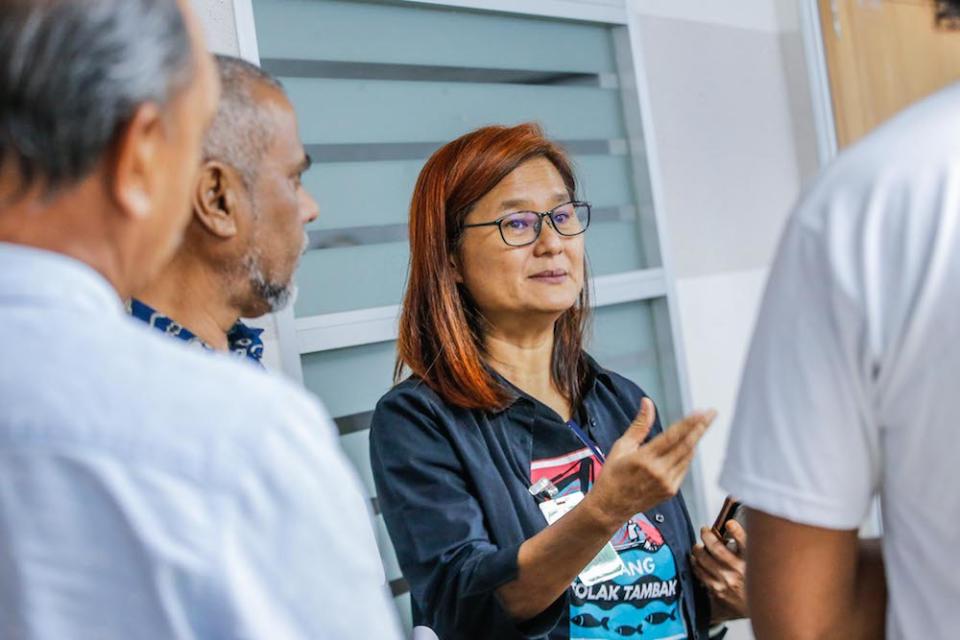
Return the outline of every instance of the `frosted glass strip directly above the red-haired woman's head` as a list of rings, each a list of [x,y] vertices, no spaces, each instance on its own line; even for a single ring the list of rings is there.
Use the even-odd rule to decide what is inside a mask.
[[[589,87],[287,78],[308,144],[443,142],[540,122],[563,140],[624,138],[620,93]]]

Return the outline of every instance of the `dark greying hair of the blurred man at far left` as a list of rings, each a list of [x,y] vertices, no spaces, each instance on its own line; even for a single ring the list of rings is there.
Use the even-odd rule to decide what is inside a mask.
[[[46,196],[85,178],[137,108],[193,75],[176,0],[0,2],[0,169]]]

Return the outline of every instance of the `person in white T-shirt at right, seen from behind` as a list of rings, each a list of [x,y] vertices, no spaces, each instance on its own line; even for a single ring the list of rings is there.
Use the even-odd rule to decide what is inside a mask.
[[[838,157],[781,241],[721,477],[758,638],[957,637],[958,374],[955,85]]]

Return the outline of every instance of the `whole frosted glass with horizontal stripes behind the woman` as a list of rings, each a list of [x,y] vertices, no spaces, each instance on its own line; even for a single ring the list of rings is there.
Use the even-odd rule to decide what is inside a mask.
[[[301,135],[318,159],[305,176],[320,217],[309,227],[316,248],[297,272],[298,317],[398,304],[423,162],[437,145],[492,123],[536,121],[573,143],[578,196],[594,205],[592,275],[654,266],[640,235],[641,219],[643,232],[655,234],[648,172],[645,158],[620,142],[628,136],[610,27],[409,2],[253,6],[260,56],[286,74]],[[589,350],[670,416],[679,394],[665,317],[663,301],[598,309]],[[392,384],[394,358],[392,342],[302,356],[304,383],[339,419],[340,442],[370,495],[367,414]],[[375,531],[395,580],[400,570],[379,516]],[[410,629],[409,594],[395,602]]]

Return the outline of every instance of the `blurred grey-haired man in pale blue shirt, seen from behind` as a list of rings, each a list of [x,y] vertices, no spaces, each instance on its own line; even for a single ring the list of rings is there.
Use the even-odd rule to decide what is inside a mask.
[[[303,392],[123,313],[218,82],[186,0],[0,3],[0,637],[397,638]]]

